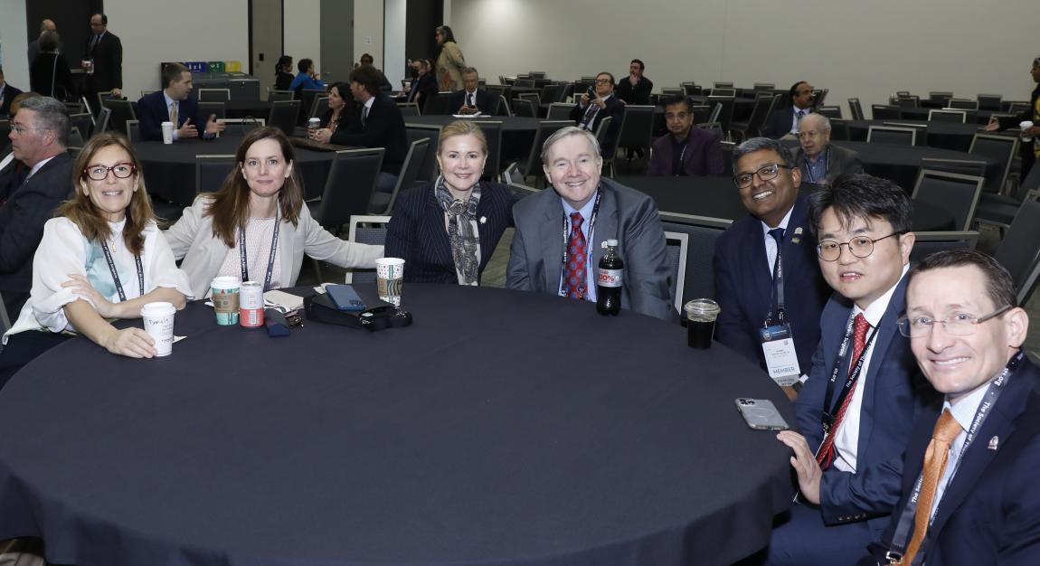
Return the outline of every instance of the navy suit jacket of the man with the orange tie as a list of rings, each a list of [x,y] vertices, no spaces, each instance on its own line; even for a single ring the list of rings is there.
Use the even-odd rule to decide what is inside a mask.
[[[1040,368],[1023,360],[1004,387],[939,500],[921,544],[930,565],[1032,566],[1040,557],[1040,492],[1036,489]],[[860,564],[887,564],[879,559],[888,549],[899,515],[920,475],[941,411],[939,400],[914,421],[906,447],[903,497],[883,535],[884,543],[872,545],[875,558]]]

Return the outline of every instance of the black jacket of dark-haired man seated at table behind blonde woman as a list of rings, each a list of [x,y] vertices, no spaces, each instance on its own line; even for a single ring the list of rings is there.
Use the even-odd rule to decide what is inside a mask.
[[[347,127],[339,128],[332,134],[331,142],[337,146],[360,146],[365,148],[386,148],[382,171],[397,175],[408,154],[408,132],[405,131],[405,117],[390,97],[379,94],[362,124],[361,112],[364,104],[358,103],[358,115]]]

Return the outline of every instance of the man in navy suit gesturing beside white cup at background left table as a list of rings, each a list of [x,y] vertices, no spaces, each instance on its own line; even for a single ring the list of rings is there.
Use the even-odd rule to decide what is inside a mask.
[[[191,98],[191,72],[179,62],[162,68],[162,91],[145,95],[137,101],[140,137],[145,142],[162,140],[162,123],[174,122],[174,142],[199,137],[199,124],[205,124],[203,137],[215,137],[224,131],[216,114],[205,119],[199,113],[199,102]]]

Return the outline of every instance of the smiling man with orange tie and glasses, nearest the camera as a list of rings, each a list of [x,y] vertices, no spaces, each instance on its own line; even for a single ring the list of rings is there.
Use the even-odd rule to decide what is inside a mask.
[[[907,565],[1037,564],[1040,368],[1019,350],[1029,316],[1011,276],[985,254],[953,250],[908,279],[900,330],[945,398],[915,421],[903,499],[861,564],[889,564],[887,552]]]

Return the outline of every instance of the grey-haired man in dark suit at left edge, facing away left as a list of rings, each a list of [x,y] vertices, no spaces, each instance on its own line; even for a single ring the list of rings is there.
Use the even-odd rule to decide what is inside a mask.
[[[15,159],[25,165],[17,172],[20,178],[0,182],[0,294],[15,320],[32,288],[32,255],[44,224],[73,189],[72,158],[66,154],[69,110],[53,98],[27,98],[9,137]]]

